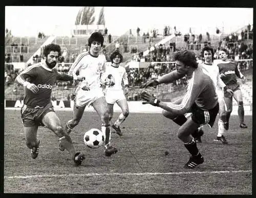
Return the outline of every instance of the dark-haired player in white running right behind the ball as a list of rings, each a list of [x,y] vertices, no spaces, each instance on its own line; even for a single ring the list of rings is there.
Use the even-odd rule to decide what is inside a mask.
[[[101,131],[105,136],[105,155],[111,156],[117,152],[117,149],[110,144],[109,111],[101,86],[102,84],[113,86],[115,82],[112,75],[106,76],[105,73],[106,58],[99,53],[103,42],[103,36],[99,32],[94,32],[88,40],[90,51],[81,53],[70,67],[69,75],[76,80],[76,72],[79,71],[80,75],[85,76],[85,80],[76,89],[73,118],[66,123],[66,132],[67,134],[71,133],[71,130],[81,120],[86,106],[92,105],[102,122]],[[64,150],[61,142],[59,149]]]

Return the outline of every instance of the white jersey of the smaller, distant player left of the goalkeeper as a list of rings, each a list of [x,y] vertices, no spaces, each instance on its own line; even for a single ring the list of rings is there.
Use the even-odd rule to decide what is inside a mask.
[[[106,86],[106,90],[122,90],[122,81],[124,85],[128,85],[125,68],[122,66],[114,67],[113,65],[106,66],[106,75],[111,74],[115,79],[114,86]]]

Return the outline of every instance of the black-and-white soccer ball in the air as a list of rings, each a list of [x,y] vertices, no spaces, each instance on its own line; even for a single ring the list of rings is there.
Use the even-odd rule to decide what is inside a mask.
[[[104,144],[104,135],[98,129],[90,129],[84,134],[83,141],[91,149],[97,149]]]

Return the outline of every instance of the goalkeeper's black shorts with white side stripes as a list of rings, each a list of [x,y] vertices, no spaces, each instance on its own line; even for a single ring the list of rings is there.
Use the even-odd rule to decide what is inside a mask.
[[[216,116],[219,112],[219,103],[210,109],[202,110],[196,105],[196,103],[191,107],[191,118],[194,122],[198,123],[200,126],[208,124],[210,127],[214,126]]]

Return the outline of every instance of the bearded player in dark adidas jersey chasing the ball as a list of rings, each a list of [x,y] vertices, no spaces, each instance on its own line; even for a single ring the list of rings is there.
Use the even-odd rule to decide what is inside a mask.
[[[73,80],[73,77],[66,73],[60,73],[54,68],[61,55],[59,45],[46,45],[43,55],[44,60],[29,66],[15,79],[16,83],[25,87],[24,105],[20,112],[26,144],[31,149],[31,157],[37,158],[40,144],[37,130],[39,126],[46,126],[59,137],[59,141],[68,150],[75,165],[80,165],[85,157],[83,154],[75,152],[72,140],[63,131],[51,103],[51,93],[55,81],[70,81]],[[77,77],[77,80],[82,79],[82,76]]]

